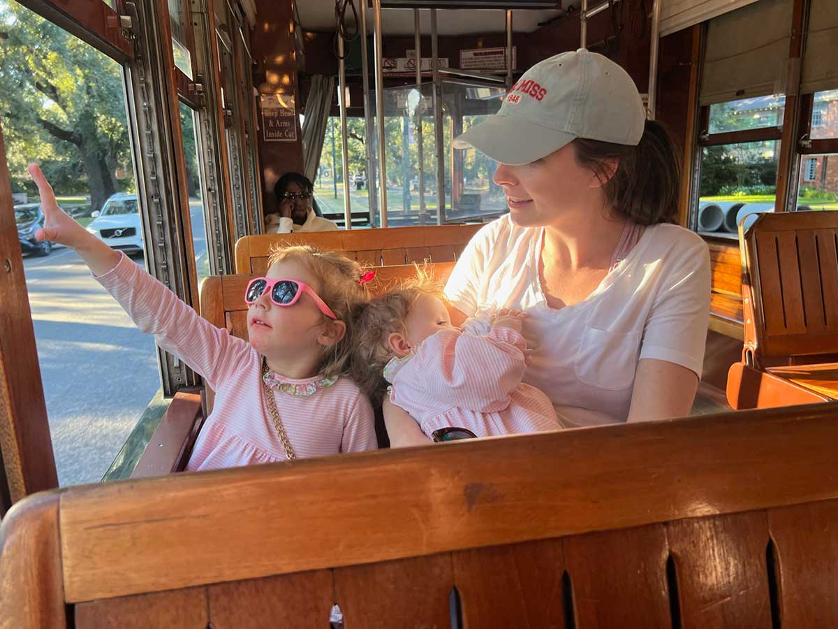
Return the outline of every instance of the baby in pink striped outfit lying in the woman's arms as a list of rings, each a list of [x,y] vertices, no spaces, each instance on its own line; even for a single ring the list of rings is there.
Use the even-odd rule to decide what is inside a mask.
[[[465,330],[489,328],[472,334],[451,325],[441,294],[420,271],[416,282],[361,304],[356,314],[356,381],[375,401],[389,382],[390,402],[416,419],[409,433],[388,429],[391,446],[558,430],[550,399],[521,382],[525,314],[472,320]]]

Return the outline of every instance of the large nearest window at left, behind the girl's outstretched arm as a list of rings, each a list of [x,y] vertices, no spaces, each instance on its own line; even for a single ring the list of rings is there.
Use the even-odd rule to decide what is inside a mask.
[[[26,172],[38,162],[65,211],[143,266],[122,68],[18,3],[0,0],[0,24],[18,216],[39,211]],[[160,387],[157,352],[75,252],[35,239],[37,222],[17,229],[59,483],[96,482]]]

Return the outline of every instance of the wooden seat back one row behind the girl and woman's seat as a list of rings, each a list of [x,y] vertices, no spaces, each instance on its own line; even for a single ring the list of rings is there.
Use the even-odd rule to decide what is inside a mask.
[[[299,234],[260,234],[235,243],[235,273],[264,274],[267,258],[278,245],[313,245],[324,251],[343,252],[373,267],[410,263],[455,262],[468,241],[483,225],[389,227]]]

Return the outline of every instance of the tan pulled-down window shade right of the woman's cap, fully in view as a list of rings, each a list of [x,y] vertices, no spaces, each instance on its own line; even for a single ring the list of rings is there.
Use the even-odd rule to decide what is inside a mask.
[[[793,4],[759,0],[710,20],[701,105],[784,93]]]

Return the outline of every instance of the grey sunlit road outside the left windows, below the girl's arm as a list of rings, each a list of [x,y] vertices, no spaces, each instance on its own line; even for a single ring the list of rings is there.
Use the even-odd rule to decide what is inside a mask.
[[[190,210],[201,273],[200,202]],[[144,268],[142,257],[134,262]],[[160,387],[154,339],[134,327],[72,250],[25,257],[23,267],[59,484],[101,481]]]

